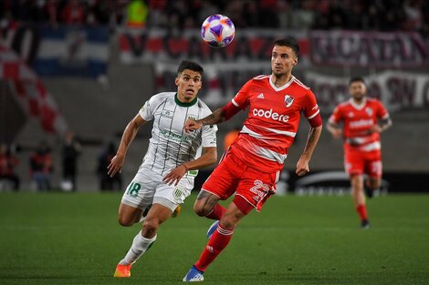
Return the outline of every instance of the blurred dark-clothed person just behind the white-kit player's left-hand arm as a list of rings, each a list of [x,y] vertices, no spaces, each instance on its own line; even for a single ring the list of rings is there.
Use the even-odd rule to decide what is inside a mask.
[[[101,190],[121,190],[122,189],[122,176],[117,173],[113,178],[108,175],[108,166],[111,158],[116,155],[116,146],[110,142],[99,154],[97,176],[99,177],[99,188]]]

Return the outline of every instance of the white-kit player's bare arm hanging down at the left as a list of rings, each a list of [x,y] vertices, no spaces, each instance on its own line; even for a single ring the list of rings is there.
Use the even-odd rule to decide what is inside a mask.
[[[127,127],[125,127],[122,137],[120,138],[120,147],[116,152],[116,156],[111,158],[110,165],[108,166],[108,175],[110,175],[110,177],[113,177],[118,171],[120,171],[120,168],[122,168],[128,148],[134,140],[134,137],[136,137],[139,128],[145,122],[146,121],[140,116],[140,114],[137,114],[136,117],[131,119]]]

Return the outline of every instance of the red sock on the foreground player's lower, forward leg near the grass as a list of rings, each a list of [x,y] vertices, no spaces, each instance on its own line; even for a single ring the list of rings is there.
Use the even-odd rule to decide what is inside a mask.
[[[233,236],[233,231],[234,229],[223,229],[221,226],[214,230],[212,238],[207,242],[199,260],[194,264],[197,270],[205,271],[207,266],[226,248]]]

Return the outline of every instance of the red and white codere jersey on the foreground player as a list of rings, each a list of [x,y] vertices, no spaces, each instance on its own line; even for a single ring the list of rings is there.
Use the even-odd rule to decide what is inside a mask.
[[[311,119],[319,114],[313,92],[295,76],[276,87],[270,76],[256,76],[232,99],[248,116],[231,151],[263,172],[283,168],[288,148],[297,134],[301,112]]]

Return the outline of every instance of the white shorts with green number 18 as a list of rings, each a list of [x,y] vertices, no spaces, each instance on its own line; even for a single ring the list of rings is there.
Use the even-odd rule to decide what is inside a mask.
[[[183,176],[177,186],[162,181],[162,176],[148,167],[140,167],[130,185],[123,193],[121,203],[138,209],[146,209],[153,203],[161,204],[172,211],[191,195],[194,177]]]

